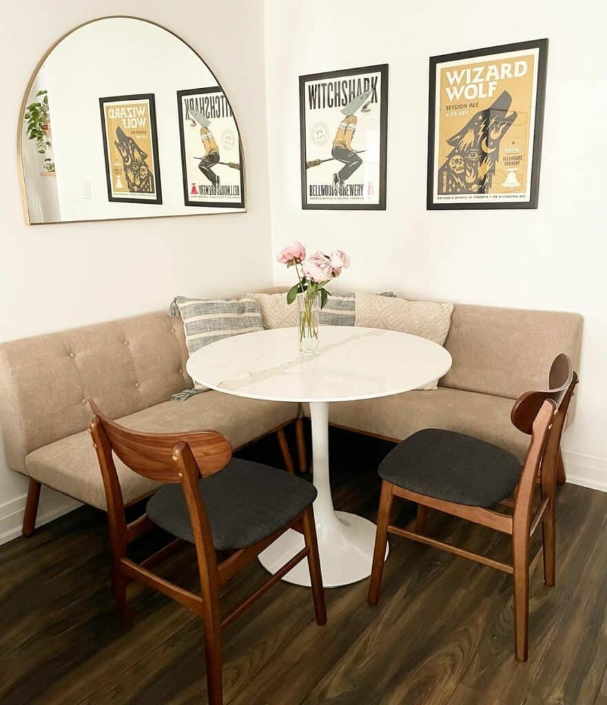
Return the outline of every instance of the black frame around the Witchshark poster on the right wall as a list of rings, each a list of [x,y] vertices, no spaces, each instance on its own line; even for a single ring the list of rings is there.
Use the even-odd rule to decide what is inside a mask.
[[[379,198],[378,203],[314,203],[307,199],[306,178],[306,105],[305,86],[308,81],[349,78],[357,74],[380,73],[380,173],[379,173]],[[304,210],[374,210],[386,209],[386,171],[387,171],[387,99],[388,99],[388,65],[387,63],[375,66],[360,66],[346,68],[342,71],[325,71],[323,73],[310,73],[299,76],[299,130],[301,148],[301,208]]]

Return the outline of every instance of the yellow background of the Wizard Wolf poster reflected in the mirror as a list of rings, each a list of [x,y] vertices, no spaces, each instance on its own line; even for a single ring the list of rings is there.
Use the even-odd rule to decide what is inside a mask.
[[[152,128],[150,123],[150,104],[147,100],[104,103],[104,117],[107,152],[109,155],[110,178],[112,180],[112,195],[140,198],[141,200],[156,197],[154,150],[152,148]],[[135,142],[133,157],[139,165],[136,185],[133,178],[128,178],[125,161],[116,142],[121,142],[118,128],[127,138]],[[128,140],[124,148],[133,147]],[[131,158],[129,154],[127,159]],[[141,161],[143,160],[143,161]],[[147,177],[147,184],[144,179]],[[131,184],[129,186],[129,184]]]

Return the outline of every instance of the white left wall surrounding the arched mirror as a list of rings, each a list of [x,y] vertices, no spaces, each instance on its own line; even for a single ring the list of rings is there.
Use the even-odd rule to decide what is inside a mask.
[[[20,102],[37,61],[86,20],[143,13],[183,37],[222,82],[241,127],[248,213],[25,226],[11,157]],[[6,157],[0,173],[0,341],[162,309],[177,293],[213,296],[271,283],[261,0],[8,4],[0,65],[0,151]],[[1,540],[18,526],[26,482],[6,469],[1,448],[0,458]],[[56,495],[43,494],[43,518],[65,507]]]

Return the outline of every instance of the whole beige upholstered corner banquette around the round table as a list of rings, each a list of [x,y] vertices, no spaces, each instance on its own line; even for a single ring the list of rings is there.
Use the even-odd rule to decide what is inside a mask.
[[[568,353],[579,369],[581,338],[578,314],[456,305],[445,342],[453,364],[438,389],[333,404],[330,422],[395,441],[424,427],[452,429],[522,457],[529,439],[510,423],[513,400],[546,386],[558,353]],[[165,312],[0,345],[0,422],[8,467],[30,478],[24,533],[33,528],[40,484],[106,508],[86,431],[90,397],[126,427],[216,429],[235,449],[306,414],[294,403],[216,391],[170,400],[192,385],[187,356],[181,321]],[[121,462],[116,466],[125,503],[156,489]]]

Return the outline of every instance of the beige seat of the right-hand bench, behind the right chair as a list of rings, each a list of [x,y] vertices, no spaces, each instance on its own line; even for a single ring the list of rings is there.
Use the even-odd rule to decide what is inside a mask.
[[[421,429],[435,428],[494,443],[523,460],[529,436],[510,421],[513,399],[439,387],[394,396],[332,404],[329,421],[355,431],[402,441]],[[306,414],[309,410],[306,407]]]

